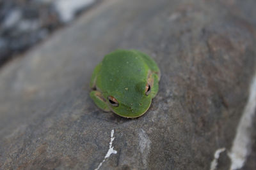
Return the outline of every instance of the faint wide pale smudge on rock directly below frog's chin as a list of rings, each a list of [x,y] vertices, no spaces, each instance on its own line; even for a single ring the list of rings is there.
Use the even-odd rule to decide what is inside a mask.
[[[140,153],[142,155],[143,166],[147,168],[147,157],[148,157],[148,153],[150,152],[151,141],[143,129],[140,129],[139,131],[139,139],[140,139],[139,148],[140,148]]]

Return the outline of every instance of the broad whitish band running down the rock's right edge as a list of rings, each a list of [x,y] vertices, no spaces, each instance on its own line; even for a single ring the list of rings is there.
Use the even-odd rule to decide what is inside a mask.
[[[231,159],[230,169],[240,169],[243,167],[246,157],[252,150],[251,131],[253,117],[256,109],[256,76],[253,78],[248,102],[244,108],[243,115],[237,127],[236,137],[228,156]]]

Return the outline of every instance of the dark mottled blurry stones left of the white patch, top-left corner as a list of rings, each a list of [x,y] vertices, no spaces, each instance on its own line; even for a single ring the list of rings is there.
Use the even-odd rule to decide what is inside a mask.
[[[0,36],[6,39],[6,47],[0,49],[0,66],[47,38],[47,34],[38,36],[40,32],[52,32],[60,26],[52,4],[38,0],[0,1]]]

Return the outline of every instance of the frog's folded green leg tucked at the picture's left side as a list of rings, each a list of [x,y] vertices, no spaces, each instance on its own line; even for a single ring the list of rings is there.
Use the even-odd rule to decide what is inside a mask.
[[[110,111],[106,99],[102,96],[102,93],[99,91],[90,92],[90,96],[93,99],[94,103],[103,111]]]

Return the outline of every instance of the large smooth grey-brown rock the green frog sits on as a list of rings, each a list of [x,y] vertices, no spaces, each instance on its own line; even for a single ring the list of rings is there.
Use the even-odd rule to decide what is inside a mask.
[[[256,2],[246,3],[104,1],[4,66],[0,169],[95,169],[112,129],[117,153],[102,169],[209,169],[232,146],[255,73]],[[93,67],[116,48],[148,53],[161,69],[140,118],[104,113],[89,97]],[[253,160],[255,150],[244,168]]]

